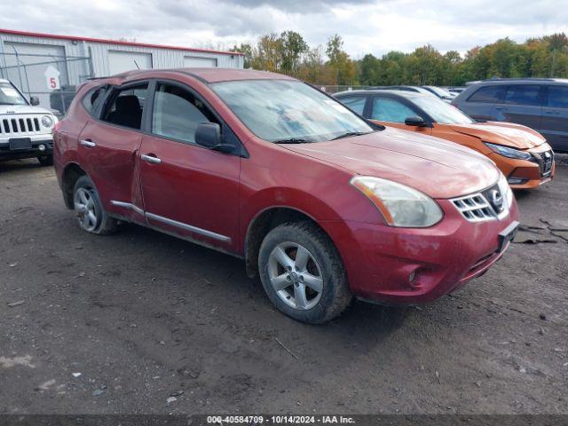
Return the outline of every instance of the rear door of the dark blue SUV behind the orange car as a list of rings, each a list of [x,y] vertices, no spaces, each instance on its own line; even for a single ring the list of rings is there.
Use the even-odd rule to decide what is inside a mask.
[[[503,103],[495,106],[499,122],[516,122],[534,130],[540,129],[542,117],[542,89],[540,84],[511,84]]]

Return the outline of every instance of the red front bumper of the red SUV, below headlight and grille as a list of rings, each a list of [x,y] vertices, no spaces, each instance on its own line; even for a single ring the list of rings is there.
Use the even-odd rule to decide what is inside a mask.
[[[351,291],[381,304],[428,303],[484,274],[509,241],[499,234],[518,217],[513,201],[501,220],[469,222],[451,201],[439,200],[445,217],[430,228],[396,228],[349,222],[351,240],[340,252]],[[502,239],[501,239],[502,240]]]

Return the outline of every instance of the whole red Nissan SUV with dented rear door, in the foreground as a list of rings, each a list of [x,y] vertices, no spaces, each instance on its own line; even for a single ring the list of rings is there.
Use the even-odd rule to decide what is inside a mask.
[[[81,87],[55,130],[89,233],[133,222],[242,257],[273,304],[320,323],[353,296],[430,302],[517,230],[501,172],[468,148],[384,129],[285,75],[136,71]]]

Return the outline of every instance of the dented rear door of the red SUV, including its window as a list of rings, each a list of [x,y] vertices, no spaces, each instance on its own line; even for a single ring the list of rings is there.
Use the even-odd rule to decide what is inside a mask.
[[[147,82],[114,88],[100,119],[87,122],[78,145],[79,162],[105,209],[137,222],[144,222],[137,156],[147,93]]]

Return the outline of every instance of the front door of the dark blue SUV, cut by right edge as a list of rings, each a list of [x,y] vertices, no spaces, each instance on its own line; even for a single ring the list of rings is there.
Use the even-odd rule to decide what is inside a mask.
[[[568,86],[547,86],[540,133],[556,151],[568,152]]]

